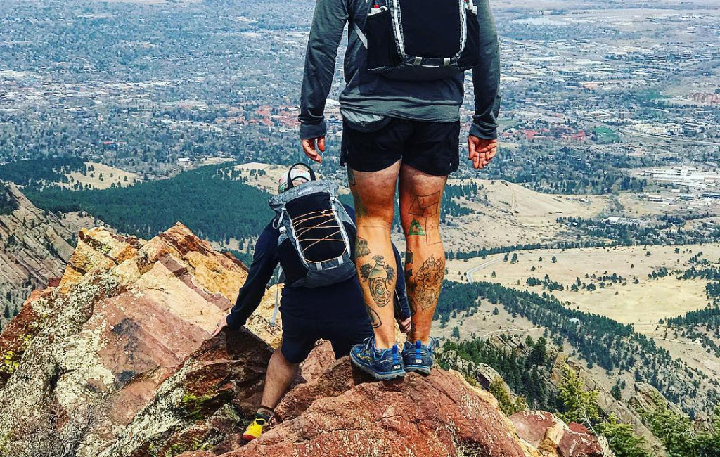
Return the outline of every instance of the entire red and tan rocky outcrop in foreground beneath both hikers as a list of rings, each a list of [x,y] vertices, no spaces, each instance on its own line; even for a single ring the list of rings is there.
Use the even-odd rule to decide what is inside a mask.
[[[17,430],[64,433],[93,405],[101,414],[81,434],[80,457],[598,455],[592,435],[552,415],[528,443],[456,371],[369,382],[328,343],[303,363],[271,430],[243,445],[280,338],[268,322],[274,289],[245,329],[210,338],[246,276],[180,224],[149,241],[82,230],[62,279],[0,334],[12,361],[0,378],[4,449],[27,455],[31,435]]]

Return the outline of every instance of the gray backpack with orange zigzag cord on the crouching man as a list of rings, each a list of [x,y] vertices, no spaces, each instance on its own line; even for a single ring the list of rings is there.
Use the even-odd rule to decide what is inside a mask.
[[[310,181],[295,186],[290,173],[296,166],[310,170]],[[270,199],[279,230],[278,251],[285,285],[322,287],[355,276],[348,228],[355,224],[338,200],[338,186],[318,181],[304,163],[287,173],[287,191]]]

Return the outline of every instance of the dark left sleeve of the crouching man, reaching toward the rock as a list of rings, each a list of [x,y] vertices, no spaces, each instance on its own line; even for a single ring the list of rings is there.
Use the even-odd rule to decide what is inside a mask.
[[[268,282],[279,263],[277,237],[277,232],[268,226],[255,243],[255,253],[248,272],[248,279],[240,288],[238,300],[228,315],[228,327],[232,330],[238,330],[245,325],[248,317],[253,314],[263,299]]]

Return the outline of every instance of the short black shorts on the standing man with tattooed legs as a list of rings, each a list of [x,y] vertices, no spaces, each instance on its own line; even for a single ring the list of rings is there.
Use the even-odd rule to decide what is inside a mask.
[[[356,171],[380,171],[402,160],[433,176],[446,176],[460,162],[460,122],[392,118],[374,132],[343,122],[341,163]]]

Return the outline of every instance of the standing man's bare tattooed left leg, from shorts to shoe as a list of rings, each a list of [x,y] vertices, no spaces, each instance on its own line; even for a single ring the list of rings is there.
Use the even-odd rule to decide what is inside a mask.
[[[395,255],[390,230],[395,210],[395,186],[400,162],[382,171],[364,173],[348,167],[348,184],[355,199],[357,240],[355,265],[375,334],[375,347],[395,345]]]

